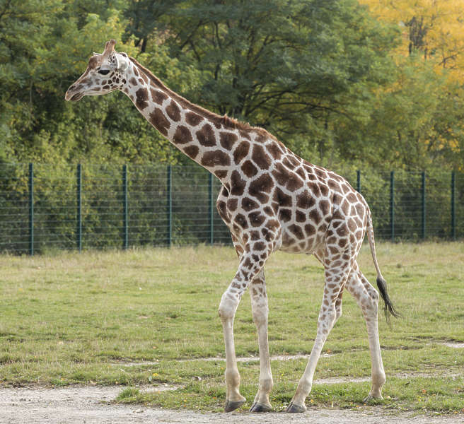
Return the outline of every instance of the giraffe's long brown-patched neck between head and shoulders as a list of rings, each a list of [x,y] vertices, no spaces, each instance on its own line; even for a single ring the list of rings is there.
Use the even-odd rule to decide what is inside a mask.
[[[188,102],[132,58],[126,72],[121,90],[150,124],[219,179],[231,175],[233,146],[243,137],[233,120]]]

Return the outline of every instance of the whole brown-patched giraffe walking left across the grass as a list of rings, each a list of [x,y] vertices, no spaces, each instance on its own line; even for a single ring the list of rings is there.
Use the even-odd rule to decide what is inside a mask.
[[[88,60],[86,71],[69,87],[65,99],[77,101],[84,95],[114,90],[129,96],[163,136],[221,181],[216,206],[239,258],[238,270],[219,304],[226,351],[225,411],[245,403],[239,389],[233,320],[247,289],[260,351],[259,385],[250,411],[272,411],[264,266],[279,249],[314,254],[325,273],[315,342],[286,411],[306,411],[305,399],[320,353],[342,314],[344,289],[354,296],[366,321],[371,390],[364,400],[382,399],[385,371],[378,338],[379,295],[356,262],[366,233],[385,315],[398,314],[378,266],[371,212],[364,197],[343,177],[299,158],[265,129],[219,116],[182,98],[136,59],[116,52],[115,40],[110,40],[103,54],[93,54]]]

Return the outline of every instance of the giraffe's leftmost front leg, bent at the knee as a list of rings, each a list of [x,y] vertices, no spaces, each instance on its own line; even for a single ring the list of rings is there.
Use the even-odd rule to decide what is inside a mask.
[[[248,252],[250,252],[250,249],[248,249]],[[224,344],[226,346],[226,406],[224,408],[226,412],[239,408],[246,401],[239,391],[240,374],[233,343],[233,319],[243,293],[245,293],[250,281],[253,281],[264,265],[264,261],[260,263],[253,256],[255,255],[248,253],[243,254],[240,258],[240,266],[236,276],[222,295],[221,304],[219,305],[219,316],[221,317]]]

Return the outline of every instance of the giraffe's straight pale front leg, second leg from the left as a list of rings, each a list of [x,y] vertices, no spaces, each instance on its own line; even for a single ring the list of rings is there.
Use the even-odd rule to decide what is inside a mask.
[[[272,406],[269,393],[274,382],[272,380],[271,360],[269,358],[269,342],[267,339],[267,293],[265,273],[260,271],[250,285],[250,299],[253,310],[253,321],[257,328],[257,340],[260,348],[260,385],[250,412],[269,412]]]

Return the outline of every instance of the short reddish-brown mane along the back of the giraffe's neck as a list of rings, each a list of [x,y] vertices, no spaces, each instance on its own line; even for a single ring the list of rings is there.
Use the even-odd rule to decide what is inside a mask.
[[[186,98],[183,98],[181,95],[178,95],[173,90],[170,90],[168,87],[166,87],[157,76],[153,75],[153,73],[149,69],[146,69],[146,67],[141,65],[136,59],[134,59],[133,57],[129,57],[129,59],[137,66],[137,68],[144,72],[144,74],[155,84],[155,86],[161,88],[161,90],[168,93],[170,98],[173,98],[182,107],[190,109],[192,110],[192,112],[197,112],[198,114],[201,114],[202,117],[210,119],[211,122],[214,122],[219,125],[224,125],[226,126],[226,128],[238,129],[239,131],[255,131],[262,136],[275,139],[275,137],[272,136],[272,134],[270,134],[268,131],[266,131],[264,128],[261,128],[260,126],[252,126],[248,123],[240,122],[237,119],[228,117],[226,114],[216,114],[214,112],[211,112],[210,110],[204,109],[204,107],[195,105],[195,103],[190,102]]]

